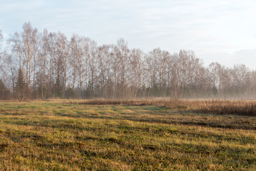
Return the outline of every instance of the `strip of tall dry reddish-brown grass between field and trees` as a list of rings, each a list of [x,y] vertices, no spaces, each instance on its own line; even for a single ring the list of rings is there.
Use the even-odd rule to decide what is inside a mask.
[[[182,112],[256,116],[256,101],[254,100],[72,100],[67,103],[84,105],[156,105]]]

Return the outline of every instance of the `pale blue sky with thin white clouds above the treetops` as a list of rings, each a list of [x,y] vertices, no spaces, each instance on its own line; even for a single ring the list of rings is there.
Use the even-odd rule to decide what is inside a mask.
[[[256,69],[255,0],[1,0],[4,39],[25,22],[43,32],[75,33],[98,45],[124,38],[144,52],[193,50],[205,66]]]

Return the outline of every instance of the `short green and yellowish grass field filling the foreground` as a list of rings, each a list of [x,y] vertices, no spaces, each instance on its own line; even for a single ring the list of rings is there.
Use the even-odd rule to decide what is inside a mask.
[[[0,170],[256,170],[256,116],[0,103]]]

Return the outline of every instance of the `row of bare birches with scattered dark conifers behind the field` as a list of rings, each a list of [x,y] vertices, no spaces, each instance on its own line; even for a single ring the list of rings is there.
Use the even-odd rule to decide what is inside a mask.
[[[0,30],[0,48],[3,35]],[[7,39],[0,53],[0,99],[131,99],[136,97],[256,97],[256,73],[244,64],[205,67],[193,51],[143,52],[61,32],[39,32],[31,23]]]

